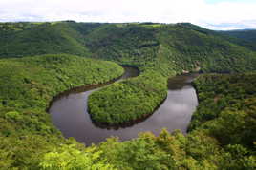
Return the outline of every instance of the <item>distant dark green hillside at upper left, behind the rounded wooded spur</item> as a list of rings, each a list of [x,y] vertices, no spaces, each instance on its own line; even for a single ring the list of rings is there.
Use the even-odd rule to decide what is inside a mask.
[[[21,57],[37,54],[69,53],[88,55],[84,37],[72,24],[0,24],[0,56]]]

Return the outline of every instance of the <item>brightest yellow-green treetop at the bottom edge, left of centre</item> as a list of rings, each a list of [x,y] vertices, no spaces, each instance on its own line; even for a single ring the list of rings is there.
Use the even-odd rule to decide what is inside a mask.
[[[83,150],[75,148],[75,144],[62,145],[44,155],[40,162],[42,169],[88,169],[114,170],[106,160],[101,159],[102,152],[95,151],[95,147]]]

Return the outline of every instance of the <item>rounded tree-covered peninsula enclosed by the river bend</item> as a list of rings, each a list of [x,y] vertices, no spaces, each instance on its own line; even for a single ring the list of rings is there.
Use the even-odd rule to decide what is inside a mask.
[[[119,124],[152,114],[166,97],[166,79],[160,73],[143,72],[139,77],[109,85],[88,100],[96,123]]]

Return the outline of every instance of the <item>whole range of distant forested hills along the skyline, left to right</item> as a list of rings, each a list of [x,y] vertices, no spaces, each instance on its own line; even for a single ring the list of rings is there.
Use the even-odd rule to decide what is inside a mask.
[[[188,23],[0,24],[1,58],[47,53],[103,58],[167,75],[187,70],[243,72],[256,66],[255,51],[248,44]]]

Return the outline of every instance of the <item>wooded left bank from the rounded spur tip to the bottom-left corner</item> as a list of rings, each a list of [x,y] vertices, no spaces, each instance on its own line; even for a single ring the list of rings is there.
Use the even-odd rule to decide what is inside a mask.
[[[64,54],[0,60],[0,167],[33,169],[51,147],[69,143],[45,111],[53,96],[122,73],[112,62]]]

